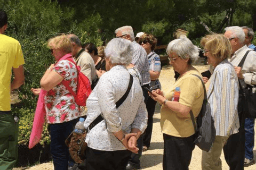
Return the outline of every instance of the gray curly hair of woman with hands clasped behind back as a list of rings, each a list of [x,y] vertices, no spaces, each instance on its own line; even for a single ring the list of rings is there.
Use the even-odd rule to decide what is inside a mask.
[[[113,64],[130,64],[133,56],[131,41],[124,38],[111,39],[105,49],[105,56],[106,58],[110,58]]]

